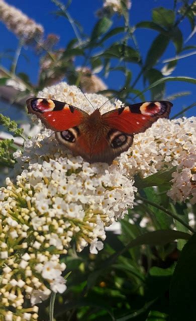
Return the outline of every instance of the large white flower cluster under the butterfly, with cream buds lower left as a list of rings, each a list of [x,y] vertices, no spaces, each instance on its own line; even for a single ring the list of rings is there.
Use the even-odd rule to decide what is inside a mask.
[[[56,86],[52,88],[52,98],[81,103],[85,108],[84,96],[76,87],[64,84],[56,95]],[[40,95],[47,97],[44,93]],[[92,96],[94,105],[106,99]],[[73,238],[79,252],[88,244],[93,254],[101,250],[105,226],[122,218],[127,207],[133,207],[136,188],[118,162],[108,167],[73,157],[65,148],[61,150],[49,129],[26,140],[23,155],[17,151],[15,157],[18,158],[15,170],[20,175],[15,185],[7,179],[8,186],[2,188],[0,202],[3,264],[0,308],[4,315],[5,306],[9,309],[12,305],[17,310],[13,320],[16,315],[21,320],[33,320],[37,317],[36,303],[45,300],[51,290],[61,293],[66,288],[61,275],[65,265],[60,263],[59,255],[66,253]],[[25,312],[24,295],[33,305]]]

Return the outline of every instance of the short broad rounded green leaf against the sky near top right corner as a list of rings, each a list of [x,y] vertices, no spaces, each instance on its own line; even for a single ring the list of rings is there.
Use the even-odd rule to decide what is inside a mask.
[[[152,11],[152,20],[155,24],[169,29],[174,25],[175,13],[163,7],[156,8]]]

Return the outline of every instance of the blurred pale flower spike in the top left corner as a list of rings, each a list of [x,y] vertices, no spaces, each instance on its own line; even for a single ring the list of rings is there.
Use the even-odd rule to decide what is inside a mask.
[[[34,39],[41,39],[44,29],[41,25],[27,17],[19,9],[8,5],[4,0],[0,0],[0,20],[5,23],[18,38],[26,44]]]

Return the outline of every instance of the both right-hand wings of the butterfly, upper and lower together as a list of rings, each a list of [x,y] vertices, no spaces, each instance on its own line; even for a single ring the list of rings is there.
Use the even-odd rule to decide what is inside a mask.
[[[111,164],[115,157],[132,145],[134,134],[145,131],[158,118],[168,118],[171,106],[168,101],[144,102],[102,115],[105,126],[110,129],[102,137],[105,148],[99,155],[99,162]]]

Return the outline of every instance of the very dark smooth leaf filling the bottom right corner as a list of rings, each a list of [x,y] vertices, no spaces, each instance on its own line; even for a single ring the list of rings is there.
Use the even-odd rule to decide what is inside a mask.
[[[195,320],[196,233],[184,245],[170,286],[170,321]]]

